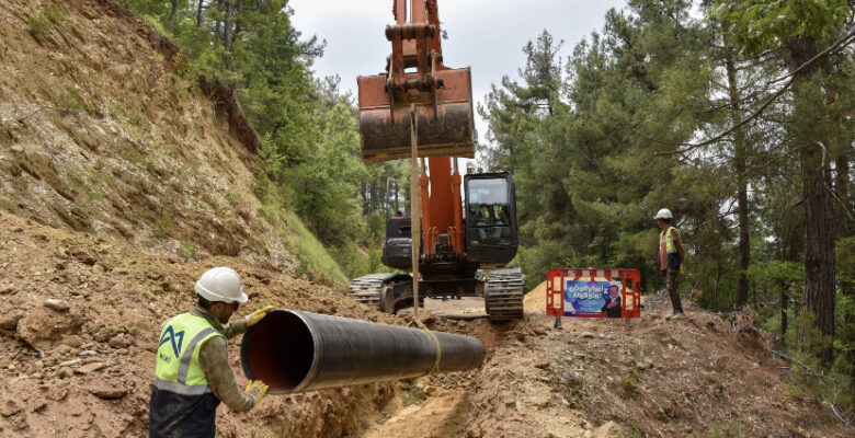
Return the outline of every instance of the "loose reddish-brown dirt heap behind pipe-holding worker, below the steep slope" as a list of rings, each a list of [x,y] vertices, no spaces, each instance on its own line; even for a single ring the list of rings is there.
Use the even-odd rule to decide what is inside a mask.
[[[181,263],[111,239],[37,224],[0,212],[0,436],[145,436],[157,334],[169,316],[193,308],[205,269],[236,268],[250,296],[233,318],[264,304],[402,323],[341,291],[244,260]],[[239,383],[239,343],[230,361]],[[247,414],[220,407],[220,437],[342,436],[361,428],[358,412],[395,395],[378,383],[270,396]]]

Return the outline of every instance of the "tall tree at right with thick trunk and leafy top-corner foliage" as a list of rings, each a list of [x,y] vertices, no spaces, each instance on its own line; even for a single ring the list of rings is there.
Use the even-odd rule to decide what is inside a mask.
[[[793,74],[794,110],[787,123],[791,148],[801,162],[805,211],[805,307],[828,335],[827,364],[834,337],[834,207],[830,180],[831,157],[822,130],[827,126],[824,100],[816,77],[828,57],[816,59],[843,34],[850,16],[844,0],[780,2],[743,0],[717,2],[718,14],[734,23],[730,35],[748,51],[783,47]]]

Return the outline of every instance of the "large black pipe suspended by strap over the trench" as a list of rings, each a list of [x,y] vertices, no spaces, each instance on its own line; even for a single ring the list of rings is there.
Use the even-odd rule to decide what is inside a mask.
[[[440,343],[438,372],[481,365],[480,341],[431,332]],[[428,374],[436,342],[425,331],[295,310],[274,310],[243,335],[247,377],[270,393],[315,391]]]

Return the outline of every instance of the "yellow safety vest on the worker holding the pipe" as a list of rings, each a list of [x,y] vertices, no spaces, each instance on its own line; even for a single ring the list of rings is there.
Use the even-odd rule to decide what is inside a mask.
[[[182,395],[209,393],[198,353],[202,344],[214,336],[226,338],[202,316],[182,313],[164,322],[160,328],[155,387]]]

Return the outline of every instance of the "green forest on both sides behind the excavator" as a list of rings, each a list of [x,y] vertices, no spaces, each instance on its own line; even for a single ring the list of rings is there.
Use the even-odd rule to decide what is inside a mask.
[[[409,163],[362,163],[353,96],[315,76],[324,43],[294,28],[287,0],[122,2],[178,44],[184,78],[233,91],[261,138],[264,217],[317,237],[288,242],[300,270],[339,286],[384,270],[385,220],[408,211]],[[845,417],[854,16],[852,0],[630,0],[568,58],[560,28],[533,30],[520,79],[478,106],[480,165],[517,185],[514,263],[533,279],[638,268],[653,292],[652,218],[670,208],[687,254],[681,291],[715,312],[752,307],[802,383]]]

